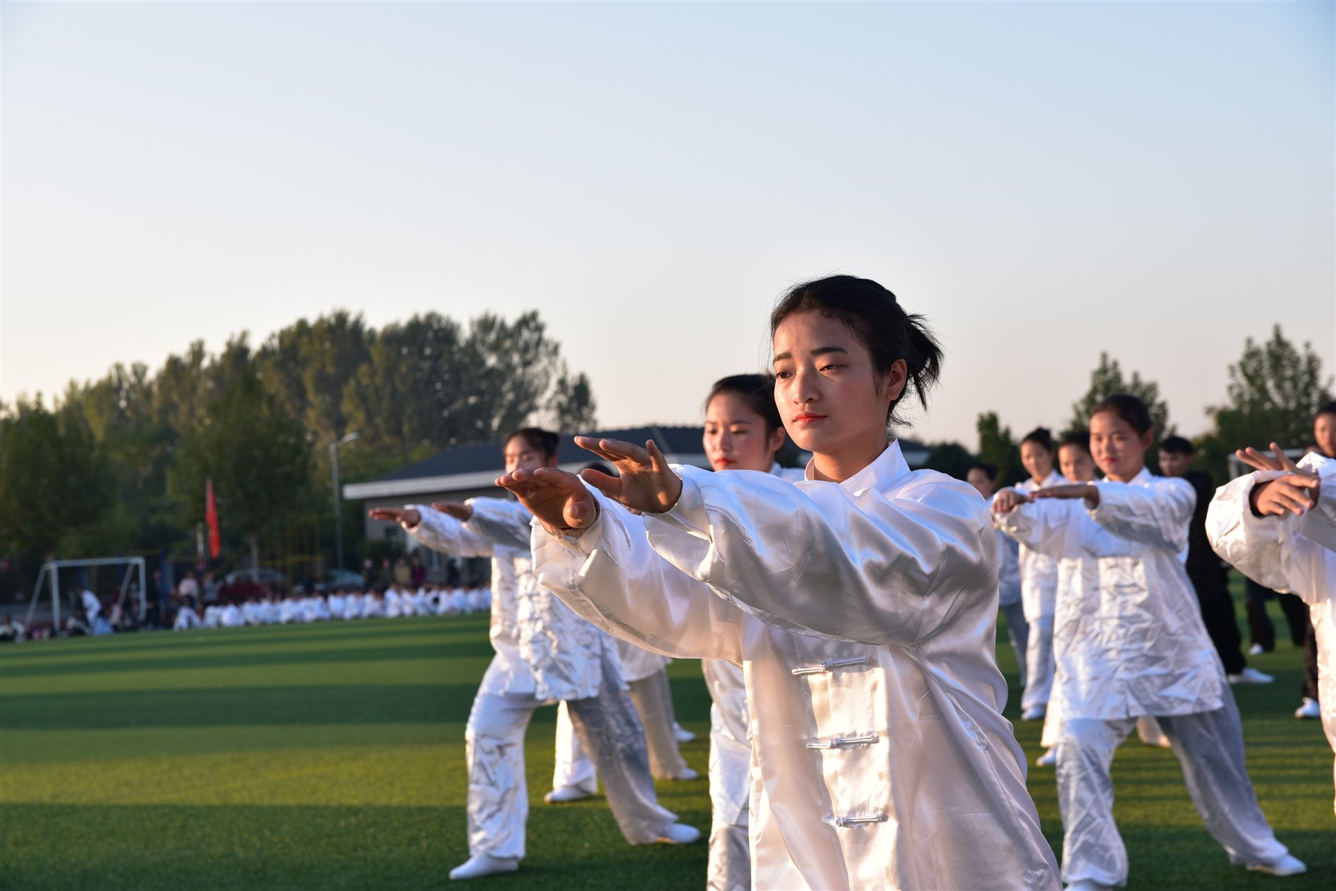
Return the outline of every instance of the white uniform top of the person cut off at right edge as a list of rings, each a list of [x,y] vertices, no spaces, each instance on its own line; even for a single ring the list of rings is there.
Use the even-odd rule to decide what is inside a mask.
[[[1305,455],[1300,467],[1321,476],[1313,510],[1303,516],[1253,516],[1256,483],[1277,471],[1248,474],[1216,490],[1206,536],[1216,554],[1268,588],[1292,591],[1308,604],[1317,636],[1317,700],[1327,742],[1336,750],[1336,460]]]

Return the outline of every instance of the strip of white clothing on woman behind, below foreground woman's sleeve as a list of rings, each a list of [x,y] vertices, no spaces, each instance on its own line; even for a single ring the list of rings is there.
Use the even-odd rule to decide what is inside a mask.
[[[751,738],[743,670],[701,659],[709,707],[709,864],[707,891],[751,888]]]

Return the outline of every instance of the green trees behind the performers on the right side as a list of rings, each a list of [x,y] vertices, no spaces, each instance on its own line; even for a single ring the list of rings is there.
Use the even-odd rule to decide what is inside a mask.
[[[1090,384],[1071,404],[1069,417],[1058,424],[1050,421],[1050,429],[1055,436],[1085,429],[1090,409],[1105,396],[1118,392],[1132,393],[1150,408],[1156,443],[1177,432],[1160,385],[1136,371],[1125,375],[1118,360],[1108,352],[1100,353],[1100,364],[1090,372]],[[1237,448],[1265,448],[1271,441],[1287,448],[1303,448],[1312,441],[1313,417],[1331,400],[1332,379],[1323,376],[1321,359],[1312,344],[1296,347],[1280,325],[1272,328],[1265,341],[1248,337],[1238,361],[1229,365],[1224,401],[1205,407],[1212,429],[1193,439],[1194,466],[1210,472],[1217,484],[1222,484],[1229,478],[1229,456]],[[1023,429],[1013,433],[997,412],[982,412],[975,423],[978,447],[971,451],[961,443],[934,443],[929,448],[927,467],[965,479],[970,467],[983,462],[998,468],[1002,484],[1019,483],[1027,474],[1021,467],[1018,439],[1033,427],[1046,425],[1039,419],[1026,423]],[[1157,470],[1156,459],[1156,450],[1152,448],[1146,455],[1152,470]]]

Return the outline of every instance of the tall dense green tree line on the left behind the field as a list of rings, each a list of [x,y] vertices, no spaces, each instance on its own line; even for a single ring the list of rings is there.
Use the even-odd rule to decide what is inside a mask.
[[[366,479],[524,423],[595,427],[589,381],[537,312],[375,329],[339,311],[259,347],[243,332],[156,371],[116,364],[49,403],[0,404],[0,576],[53,556],[195,554],[210,478],[224,558],[251,542],[333,554],[329,443],[358,432],[341,472]],[[345,531],[361,530],[346,508]]]

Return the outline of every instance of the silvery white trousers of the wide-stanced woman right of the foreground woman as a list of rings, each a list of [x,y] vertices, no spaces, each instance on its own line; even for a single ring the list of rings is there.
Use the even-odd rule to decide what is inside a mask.
[[[1182,764],[1188,794],[1206,831],[1234,864],[1275,863],[1288,852],[1257,806],[1233,696],[1196,715],[1161,715]],[[1062,811],[1062,880],[1122,886],[1128,850],[1113,822],[1113,752],[1136,718],[1067,718],[1058,739],[1058,808]]]

